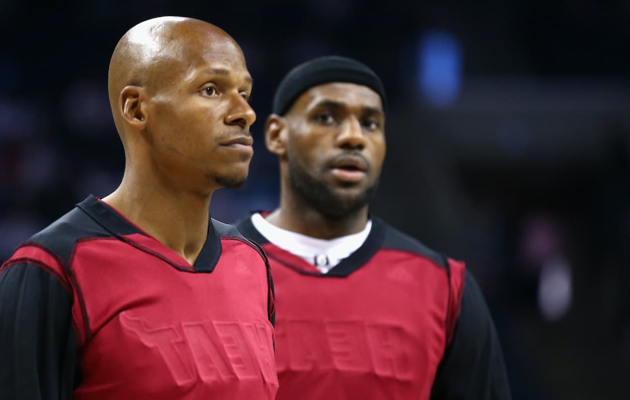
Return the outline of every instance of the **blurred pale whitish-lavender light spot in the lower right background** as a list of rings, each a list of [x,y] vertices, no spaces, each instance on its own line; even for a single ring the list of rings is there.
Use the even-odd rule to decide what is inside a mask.
[[[546,261],[538,282],[538,307],[547,321],[557,321],[571,306],[571,268],[563,257]]]

